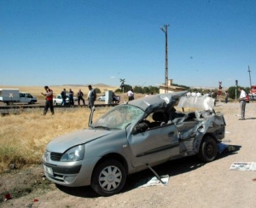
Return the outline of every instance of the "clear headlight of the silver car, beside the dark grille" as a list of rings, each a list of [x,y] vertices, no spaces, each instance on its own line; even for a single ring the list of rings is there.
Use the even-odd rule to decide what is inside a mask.
[[[84,159],[84,145],[67,150],[61,157],[61,162],[75,162]]]

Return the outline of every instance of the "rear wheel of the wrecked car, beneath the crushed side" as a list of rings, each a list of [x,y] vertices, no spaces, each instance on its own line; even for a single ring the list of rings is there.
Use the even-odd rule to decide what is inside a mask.
[[[218,153],[217,142],[212,136],[206,136],[201,142],[201,147],[199,149],[199,159],[203,162],[211,162],[214,160]]]

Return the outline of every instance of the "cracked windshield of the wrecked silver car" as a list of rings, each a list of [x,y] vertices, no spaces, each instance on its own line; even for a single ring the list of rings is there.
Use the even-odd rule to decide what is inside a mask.
[[[91,124],[92,128],[102,128],[105,130],[110,129],[125,129],[129,124],[141,118],[144,112],[138,107],[130,105],[119,105],[113,107],[108,113],[98,118],[96,122]]]

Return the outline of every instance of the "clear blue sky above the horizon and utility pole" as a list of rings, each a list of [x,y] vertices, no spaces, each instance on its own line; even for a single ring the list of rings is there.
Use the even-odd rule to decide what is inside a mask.
[[[0,84],[256,84],[255,0],[1,0]]]

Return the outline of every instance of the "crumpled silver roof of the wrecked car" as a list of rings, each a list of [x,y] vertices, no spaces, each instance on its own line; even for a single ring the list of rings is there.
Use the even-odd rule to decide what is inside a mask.
[[[181,91],[158,95],[148,95],[133,101],[129,101],[128,103],[132,106],[143,109],[145,112],[148,112],[161,106],[173,107],[178,99],[186,93],[187,91]]]

